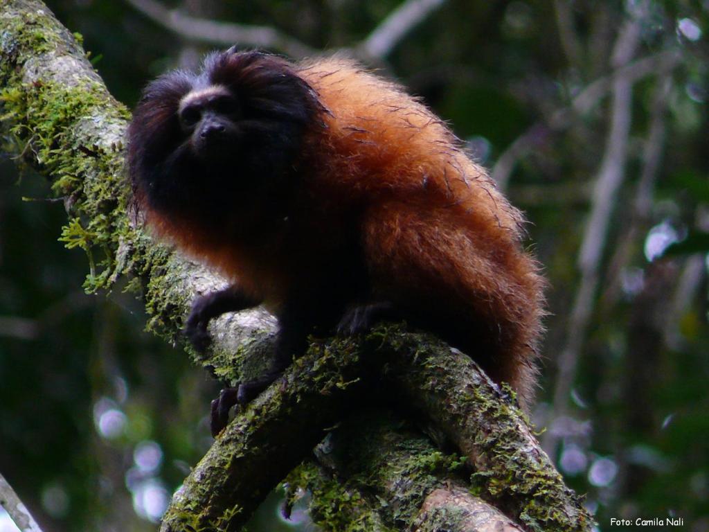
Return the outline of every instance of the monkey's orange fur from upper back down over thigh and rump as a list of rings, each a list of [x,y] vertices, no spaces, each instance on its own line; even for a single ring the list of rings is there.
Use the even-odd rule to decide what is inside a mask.
[[[323,202],[362,206],[375,297],[466,350],[528,405],[544,281],[523,250],[520,212],[445,123],[396,84],[337,57],[298,72],[327,110],[326,127],[306,136],[308,187]]]

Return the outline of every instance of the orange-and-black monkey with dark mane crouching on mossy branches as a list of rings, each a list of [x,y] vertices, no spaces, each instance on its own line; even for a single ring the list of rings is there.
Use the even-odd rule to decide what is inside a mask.
[[[133,197],[160,238],[229,279],[186,335],[263,304],[272,370],[213,401],[218,433],[317,332],[406,321],[474,357],[528,409],[545,280],[523,215],[444,121],[344,57],[234,48],[144,89],[128,127]]]

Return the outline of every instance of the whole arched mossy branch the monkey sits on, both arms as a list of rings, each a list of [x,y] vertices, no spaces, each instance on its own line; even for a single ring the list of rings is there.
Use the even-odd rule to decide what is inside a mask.
[[[431,420],[462,450],[478,471],[474,485],[508,516],[535,531],[591,526],[591,516],[564,486],[510,396],[471,358],[430,335],[379,326],[363,343],[349,338],[311,345],[218,437],[176,494],[161,531],[182,530],[187,523],[237,530],[255,509],[254,494],[264,495],[264,486],[285,477],[298,455],[303,458],[333,425],[337,411],[342,415],[345,402],[359,403],[351,395],[359,385],[354,381],[374,361],[387,368],[385,389],[393,387],[393,397],[413,405],[420,419]]]

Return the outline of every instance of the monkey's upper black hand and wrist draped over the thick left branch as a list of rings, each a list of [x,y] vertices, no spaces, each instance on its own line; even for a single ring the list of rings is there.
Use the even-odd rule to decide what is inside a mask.
[[[211,343],[207,332],[209,320],[225,312],[250,309],[260,303],[261,301],[244,294],[235,286],[198,297],[187,317],[184,335],[199,353],[204,353]]]

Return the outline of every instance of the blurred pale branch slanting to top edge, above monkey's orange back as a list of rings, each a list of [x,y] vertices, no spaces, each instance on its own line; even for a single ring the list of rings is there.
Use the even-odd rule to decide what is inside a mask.
[[[418,26],[432,11],[438,9],[445,0],[407,0],[389,13],[384,21],[362,41],[357,50],[364,57],[383,59],[403,37]]]

